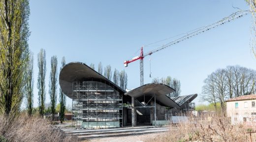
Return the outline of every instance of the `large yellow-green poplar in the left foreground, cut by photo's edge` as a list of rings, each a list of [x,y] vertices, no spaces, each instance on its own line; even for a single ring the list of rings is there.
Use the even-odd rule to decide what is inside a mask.
[[[0,2],[0,113],[17,114],[29,60],[29,0]]]

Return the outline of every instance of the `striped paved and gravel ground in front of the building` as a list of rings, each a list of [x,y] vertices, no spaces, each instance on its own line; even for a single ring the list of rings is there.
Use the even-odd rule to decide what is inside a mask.
[[[82,142],[145,142],[168,131],[168,127],[137,126],[113,129],[76,129],[61,124],[59,127],[68,134],[78,136]]]

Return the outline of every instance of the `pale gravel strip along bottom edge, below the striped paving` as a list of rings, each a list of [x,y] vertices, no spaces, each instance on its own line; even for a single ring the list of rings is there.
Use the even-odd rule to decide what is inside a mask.
[[[94,138],[83,142],[145,142],[147,139],[153,139],[161,133],[152,133],[145,135],[131,135],[122,137]]]

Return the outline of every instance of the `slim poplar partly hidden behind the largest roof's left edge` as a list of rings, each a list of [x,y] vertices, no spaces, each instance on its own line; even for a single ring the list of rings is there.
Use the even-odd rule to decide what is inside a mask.
[[[61,64],[61,69],[60,71],[62,71],[62,68],[65,66],[66,62],[65,62],[65,57],[62,58],[62,64]],[[60,101],[60,121],[61,123],[63,123],[64,121],[64,116],[65,116],[65,105],[66,105],[66,96],[64,95],[62,89],[60,88],[60,97],[59,97],[59,101]]]

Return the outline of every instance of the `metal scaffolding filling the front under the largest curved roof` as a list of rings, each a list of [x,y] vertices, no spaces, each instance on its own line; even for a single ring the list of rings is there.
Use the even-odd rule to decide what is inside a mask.
[[[123,94],[98,81],[72,83],[72,119],[77,128],[123,126]]]

